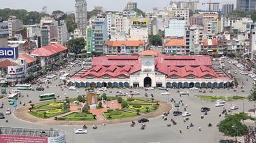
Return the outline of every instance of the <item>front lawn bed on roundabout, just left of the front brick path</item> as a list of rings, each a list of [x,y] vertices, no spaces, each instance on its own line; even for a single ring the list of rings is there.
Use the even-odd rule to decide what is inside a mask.
[[[95,121],[93,114],[91,113],[71,113],[66,116],[61,117],[63,120],[70,120],[70,121]]]

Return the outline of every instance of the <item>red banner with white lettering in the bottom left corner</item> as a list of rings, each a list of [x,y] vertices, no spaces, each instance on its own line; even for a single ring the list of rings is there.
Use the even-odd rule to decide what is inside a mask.
[[[1,143],[48,143],[48,138],[35,136],[0,135]]]

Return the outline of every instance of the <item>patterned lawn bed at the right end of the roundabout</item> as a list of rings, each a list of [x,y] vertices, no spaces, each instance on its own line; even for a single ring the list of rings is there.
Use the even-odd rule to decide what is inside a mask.
[[[141,107],[138,107],[138,106],[141,106]],[[146,109],[147,107],[148,107],[148,110]],[[129,105],[128,109],[132,110],[134,112],[137,112],[137,110],[139,110],[139,112],[147,113],[147,112],[153,112],[158,107],[159,106],[156,104],[153,104],[153,105]]]

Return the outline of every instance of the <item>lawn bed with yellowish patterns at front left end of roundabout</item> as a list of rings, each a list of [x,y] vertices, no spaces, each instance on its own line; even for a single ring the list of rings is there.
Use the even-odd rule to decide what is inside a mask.
[[[46,112],[46,116],[44,117],[44,112]],[[29,112],[29,114],[36,116],[38,118],[50,118],[53,116],[57,116],[59,114],[66,113],[66,110],[62,109],[53,109],[53,110],[40,110],[40,111],[33,111]]]

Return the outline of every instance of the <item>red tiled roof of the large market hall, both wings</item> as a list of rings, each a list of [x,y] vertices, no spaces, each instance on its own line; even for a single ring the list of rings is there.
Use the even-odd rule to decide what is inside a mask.
[[[147,52],[150,52],[147,51]],[[100,78],[102,76],[110,76],[116,78],[124,75],[130,76],[134,72],[141,70],[141,56],[110,56],[94,57],[92,66],[89,71],[79,72],[72,76],[72,78],[86,78],[87,76],[95,76]],[[119,58],[117,58],[119,57]],[[178,76],[186,78],[193,75],[196,78],[203,78],[204,76],[212,76],[212,78],[229,78],[220,76],[211,68],[212,59],[209,56],[167,56],[158,53],[155,57],[156,71],[166,74],[167,76]]]

